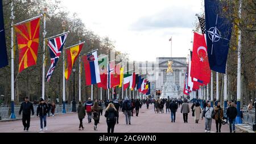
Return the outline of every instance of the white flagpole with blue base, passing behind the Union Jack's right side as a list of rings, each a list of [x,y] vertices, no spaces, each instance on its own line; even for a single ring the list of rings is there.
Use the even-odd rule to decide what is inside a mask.
[[[62,22],[62,27],[63,27],[63,32],[65,32],[65,27],[66,27],[66,22],[63,21]],[[64,45],[63,45],[63,48],[64,48]],[[63,103],[63,111],[62,113],[66,113],[66,109],[65,109],[65,102],[66,102],[66,99],[65,99],[65,50],[63,50],[63,91],[62,91],[62,103]]]

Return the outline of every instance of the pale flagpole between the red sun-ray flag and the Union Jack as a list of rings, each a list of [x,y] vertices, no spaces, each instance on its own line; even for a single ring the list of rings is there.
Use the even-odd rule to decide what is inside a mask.
[[[44,8],[43,16],[44,16],[44,32],[43,32],[43,73],[42,73],[42,98],[44,99],[44,82],[45,82],[45,53],[46,53],[46,12],[47,7]]]

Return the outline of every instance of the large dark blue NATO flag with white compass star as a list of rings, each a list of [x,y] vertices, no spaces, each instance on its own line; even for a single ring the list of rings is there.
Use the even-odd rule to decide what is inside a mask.
[[[205,0],[205,28],[207,51],[210,69],[226,73],[226,60],[229,52],[229,41],[232,23],[224,18],[222,11],[225,4],[218,0]]]

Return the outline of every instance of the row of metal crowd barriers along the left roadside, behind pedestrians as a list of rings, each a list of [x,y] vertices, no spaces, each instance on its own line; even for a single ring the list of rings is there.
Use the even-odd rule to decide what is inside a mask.
[[[77,108],[77,106],[78,106],[78,104],[76,104],[76,108]],[[36,109],[38,108],[38,105],[33,104],[33,107],[34,107],[34,112],[36,115]],[[19,115],[19,109],[20,109],[20,105],[14,105],[14,113],[15,113],[16,118],[22,118],[22,115]],[[72,111],[72,104],[66,104],[65,110],[67,113],[70,113]],[[62,111],[63,111],[63,105],[56,105],[55,114],[62,113]],[[0,116],[2,119],[10,118],[10,113],[11,113],[11,109],[10,109],[9,105],[1,105],[0,106]],[[50,115],[51,115],[51,112],[50,112]]]

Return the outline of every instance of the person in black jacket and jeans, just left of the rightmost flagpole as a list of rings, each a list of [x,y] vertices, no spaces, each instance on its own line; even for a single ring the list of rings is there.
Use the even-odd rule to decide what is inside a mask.
[[[234,102],[231,103],[231,106],[226,110],[226,115],[229,119],[229,130],[230,133],[236,133],[236,117],[237,117],[237,108],[234,107]],[[232,129],[233,126],[233,129]]]

